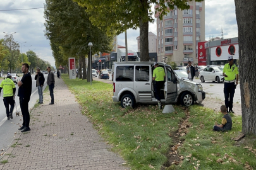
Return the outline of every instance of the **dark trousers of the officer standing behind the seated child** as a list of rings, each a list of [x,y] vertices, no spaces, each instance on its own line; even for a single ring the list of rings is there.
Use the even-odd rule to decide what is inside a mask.
[[[224,96],[225,96],[225,105],[227,110],[232,110],[233,108],[233,98],[235,94],[235,82],[224,82]]]

